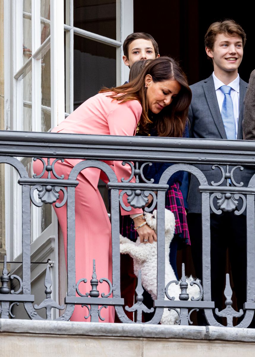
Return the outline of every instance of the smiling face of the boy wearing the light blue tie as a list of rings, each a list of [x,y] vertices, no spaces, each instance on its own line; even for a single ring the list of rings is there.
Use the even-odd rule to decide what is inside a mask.
[[[243,59],[243,41],[238,34],[217,34],[213,50],[205,47],[213,60],[214,71],[237,71]]]

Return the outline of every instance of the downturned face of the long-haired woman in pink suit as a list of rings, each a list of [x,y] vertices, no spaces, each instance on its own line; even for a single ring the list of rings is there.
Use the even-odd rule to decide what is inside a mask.
[[[175,79],[153,82],[150,74],[145,77],[145,85],[148,106],[154,114],[158,114],[164,107],[170,105],[181,90],[181,85]]]

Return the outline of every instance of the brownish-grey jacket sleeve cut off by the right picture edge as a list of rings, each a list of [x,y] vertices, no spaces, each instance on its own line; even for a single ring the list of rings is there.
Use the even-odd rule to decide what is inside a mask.
[[[244,98],[243,130],[246,140],[255,140],[255,70],[251,72]]]

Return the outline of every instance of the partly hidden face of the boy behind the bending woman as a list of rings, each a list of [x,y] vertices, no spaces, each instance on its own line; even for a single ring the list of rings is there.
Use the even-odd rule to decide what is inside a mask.
[[[132,41],[128,49],[128,59],[123,56],[123,61],[126,66],[131,67],[135,61],[154,59],[159,57],[155,53],[151,40],[136,39]]]

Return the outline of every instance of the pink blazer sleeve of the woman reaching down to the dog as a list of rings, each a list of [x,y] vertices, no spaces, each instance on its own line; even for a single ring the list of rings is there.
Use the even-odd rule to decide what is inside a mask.
[[[136,125],[140,120],[142,114],[142,106],[138,100],[130,100],[124,103],[116,103],[116,107],[108,115],[108,125],[110,135],[126,135],[134,136],[136,132]],[[121,161],[114,161],[114,172],[121,182],[121,178],[125,180],[131,175],[131,168],[129,165],[122,165]],[[131,182],[135,182],[135,178],[132,178]],[[126,206],[129,206],[126,200],[127,196],[124,195],[123,201]],[[130,215],[135,213],[142,213],[141,208],[133,208],[131,211],[125,211],[121,207],[121,215]]]

